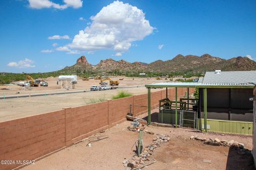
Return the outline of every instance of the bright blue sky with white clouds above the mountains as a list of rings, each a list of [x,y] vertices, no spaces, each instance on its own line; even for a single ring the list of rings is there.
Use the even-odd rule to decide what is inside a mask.
[[[0,24],[0,72],[60,70],[81,55],[91,64],[256,58],[256,1],[12,0],[0,2]]]

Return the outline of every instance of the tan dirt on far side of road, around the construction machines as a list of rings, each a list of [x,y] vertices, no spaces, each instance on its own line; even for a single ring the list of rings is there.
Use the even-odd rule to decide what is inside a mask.
[[[119,87],[125,86],[138,86],[140,84],[149,84],[155,82],[165,82],[166,80],[156,80],[155,78],[129,78],[129,77],[111,77],[112,80],[118,80],[123,78],[124,80],[119,80]],[[133,80],[134,79],[134,80]],[[58,77],[47,78],[48,87],[31,87],[31,90],[24,90],[23,87],[18,85],[6,85],[0,86],[0,89],[10,89],[10,90],[0,90],[0,96],[12,96],[12,95],[26,95],[26,94],[42,94],[47,92],[59,92],[65,91],[66,89],[61,89],[60,84],[57,84]],[[20,81],[18,81],[20,82]],[[17,82],[17,83],[18,83]],[[90,89],[92,85],[99,85],[100,80],[90,79],[89,81],[83,81],[81,78],[77,78],[76,89],[69,89],[69,91],[76,90],[86,90]],[[106,81],[108,82],[108,81]],[[18,93],[19,92],[19,93]]]

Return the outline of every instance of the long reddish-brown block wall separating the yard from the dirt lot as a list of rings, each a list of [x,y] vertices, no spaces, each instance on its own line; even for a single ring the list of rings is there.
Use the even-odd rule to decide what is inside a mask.
[[[185,88],[178,88],[178,96],[183,96],[185,91]],[[168,94],[175,99],[175,89],[169,89]],[[165,90],[152,92],[151,106],[158,106],[158,100],[165,97]],[[130,104],[146,106],[132,107],[134,115],[147,112],[147,94],[1,122],[0,160],[34,160],[73,145],[93,133],[125,121]],[[0,169],[18,166],[0,164]]]

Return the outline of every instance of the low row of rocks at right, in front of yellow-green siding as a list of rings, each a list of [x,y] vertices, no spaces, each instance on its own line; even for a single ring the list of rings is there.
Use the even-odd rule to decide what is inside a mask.
[[[239,148],[239,149],[244,149],[244,144],[243,143],[239,143],[236,142],[234,140],[220,140],[218,138],[215,139],[206,139],[206,138],[201,138],[198,136],[191,136],[189,139],[191,140],[200,140],[200,141],[204,141],[204,144],[206,145],[213,145],[213,146],[225,146],[225,147],[231,147],[231,148]]]

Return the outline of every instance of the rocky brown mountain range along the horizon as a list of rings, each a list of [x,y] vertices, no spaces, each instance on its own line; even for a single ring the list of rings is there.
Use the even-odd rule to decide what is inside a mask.
[[[73,72],[113,72],[138,73],[138,72],[204,72],[204,71],[249,71],[256,70],[256,62],[247,57],[234,57],[225,60],[220,57],[214,57],[209,54],[202,56],[181,54],[172,58],[172,60],[157,60],[152,63],[134,62],[125,60],[115,61],[111,58],[101,60],[97,65],[90,64],[85,56],[77,59],[76,64],[67,66],[63,71]]]

